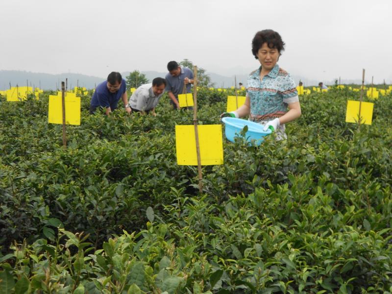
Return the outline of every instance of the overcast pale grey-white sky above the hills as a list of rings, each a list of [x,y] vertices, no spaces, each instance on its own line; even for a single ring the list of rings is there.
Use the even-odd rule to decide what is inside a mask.
[[[166,72],[188,58],[245,74],[258,30],[280,33],[279,65],[317,80],[392,81],[391,0],[0,0],[0,70]]]

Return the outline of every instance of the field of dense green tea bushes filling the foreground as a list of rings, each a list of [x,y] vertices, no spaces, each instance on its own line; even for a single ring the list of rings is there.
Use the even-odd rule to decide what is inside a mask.
[[[359,93],[301,97],[288,140],[223,140],[199,195],[175,156],[192,112],[90,116],[83,97],[64,149],[48,95],[0,97],[0,293],[392,292],[391,96],[359,129]],[[220,123],[223,93],[197,97]]]

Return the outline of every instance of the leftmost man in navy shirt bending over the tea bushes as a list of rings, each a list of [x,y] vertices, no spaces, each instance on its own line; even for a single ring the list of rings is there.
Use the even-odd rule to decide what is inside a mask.
[[[111,72],[107,76],[107,80],[100,83],[95,89],[93,98],[90,102],[90,113],[94,114],[98,107],[105,108],[106,115],[109,115],[117,108],[117,103],[120,98],[123,99],[126,112],[132,112],[128,104],[128,97],[126,95],[125,81],[120,73]]]

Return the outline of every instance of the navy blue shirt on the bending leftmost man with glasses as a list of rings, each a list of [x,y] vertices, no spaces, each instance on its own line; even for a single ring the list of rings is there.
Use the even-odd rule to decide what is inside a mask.
[[[119,102],[125,91],[126,87],[124,79],[121,82],[120,89],[117,90],[117,92],[115,93],[111,93],[109,91],[109,89],[107,88],[107,81],[104,81],[100,83],[95,89],[93,98],[91,98],[90,105],[95,107],[101,106],[104,108],[110,106],[110,109],[114,110],[117,108],[117,103]]]

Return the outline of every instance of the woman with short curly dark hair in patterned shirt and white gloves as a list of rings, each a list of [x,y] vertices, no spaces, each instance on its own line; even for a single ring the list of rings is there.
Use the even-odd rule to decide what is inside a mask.
[[[223,116],[242,118],[260,123],[264,130],[276,131],[276,139],[286,139],[285,123],[301,116],[298,93],[293,78],[277,64],[285,43],[279,33],[265,29],[256,33],[252,54],[260,67],[247,78],[245,103],[236,111]]]

